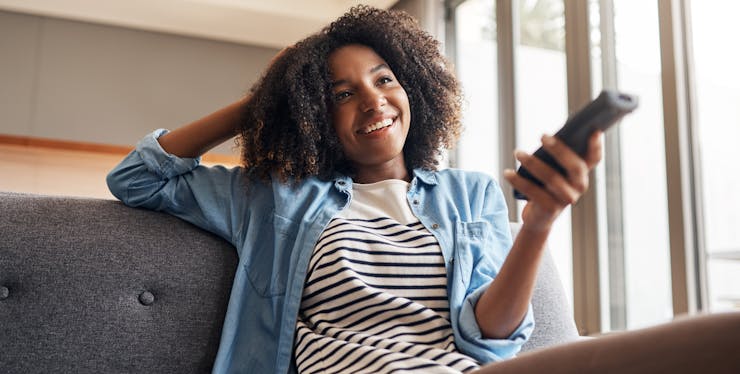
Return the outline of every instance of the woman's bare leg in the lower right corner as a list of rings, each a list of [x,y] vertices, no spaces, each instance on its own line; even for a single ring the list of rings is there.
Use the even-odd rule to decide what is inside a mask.
[[[479,373],[740,373],[740,313],[681,317],[646,329],[526,352]]]

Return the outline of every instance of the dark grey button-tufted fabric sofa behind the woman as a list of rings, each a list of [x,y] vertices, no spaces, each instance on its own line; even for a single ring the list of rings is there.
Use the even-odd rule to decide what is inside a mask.
[[[209,372],[236,265],[166,214],[0,192],[0,373]],[[533,308],[524,350],[577,339],[549,254]]]

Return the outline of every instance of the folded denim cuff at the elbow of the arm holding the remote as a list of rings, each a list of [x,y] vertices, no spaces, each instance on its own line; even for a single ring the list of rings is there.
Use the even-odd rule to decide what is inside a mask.
[[[491,360],[514,357],[522,345],[529,339],[534,330],[532,305],[527,308],[519,326],[506,339],[487,339],[483,337],[478,321],[475,318],[475,305],[488,288],[488,284],[468,295],[460,311],[460,333],[463,339],[490,352]]]

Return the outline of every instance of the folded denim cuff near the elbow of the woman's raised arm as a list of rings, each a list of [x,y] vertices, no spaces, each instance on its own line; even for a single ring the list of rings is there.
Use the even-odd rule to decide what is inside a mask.
[[[168,132],[157,129],[136,144],[136,151],[147,169],[165,179],[186,173],[200,164],[200,157],[184,158],[167,153],[157,139]]]

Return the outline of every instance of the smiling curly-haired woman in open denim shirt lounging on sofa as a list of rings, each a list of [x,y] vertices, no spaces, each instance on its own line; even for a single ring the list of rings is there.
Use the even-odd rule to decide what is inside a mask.
[[[229,240],[240,263],[213,371],[463,372],[516,354],[553,221],[588,186],[516,158],[529,197],[513,241],[489,177],[437,169],[460,133],[460,90],[438,43],[404,13],[356,7],[273,59],[243,100],[144,138],[108,176],[131,206]],[[243,165],[197,158],[238,133]]]

